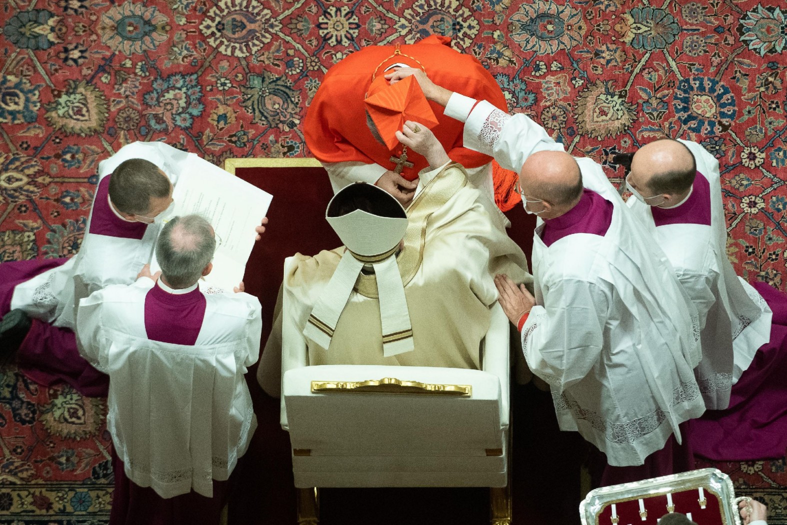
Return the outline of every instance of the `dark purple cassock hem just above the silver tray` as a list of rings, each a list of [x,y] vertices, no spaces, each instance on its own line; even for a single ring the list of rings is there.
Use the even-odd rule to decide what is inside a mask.
[[[663,475],[678,474],[693,470],[694,457],[691,446],[685,438],[688,422],[681,423],[682,445],[678,445],[678,440],[674,434],[667,439],[663,449],[656,450],[645,458],[645,463],[634,467],[612,467],[607,465],[604,474],[601,475],[600,486],[619,485],[643,479],[658,478]]]

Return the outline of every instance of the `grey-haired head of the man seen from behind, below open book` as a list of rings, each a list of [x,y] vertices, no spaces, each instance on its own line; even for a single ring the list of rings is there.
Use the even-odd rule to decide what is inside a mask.
[[[156,242],[156,258],[161,274],[172,288],[188,288],[196,283],[216,251],[216,235],[204,217],[172,217],[161,229]]]

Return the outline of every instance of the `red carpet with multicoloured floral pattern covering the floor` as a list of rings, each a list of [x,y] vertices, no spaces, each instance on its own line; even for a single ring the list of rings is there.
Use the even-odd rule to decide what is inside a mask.
[[[327,68],[439,33],[614,183],[616,152],[701,142],[722,167],[737,271],[784,290],[787,9],[766,4],[0,0],[0,261],[76,253],[98,161],[127,142],[219,165],[308,155],[300,126]],[[0,378],[0,523],[104,523],[103,402]],[[721,468],[787,523],[784,460]]]

